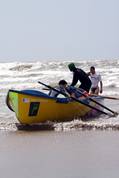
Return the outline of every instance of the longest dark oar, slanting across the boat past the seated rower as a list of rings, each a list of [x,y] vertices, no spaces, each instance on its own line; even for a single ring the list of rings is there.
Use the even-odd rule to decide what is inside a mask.
[[[51,86],[49,86],[49,85],[46,85],[45,83],[42,83],[42,82],[40,82],[40,81],[38,81],[38,83],[40,83],[41,85],[44,85],[45,87],[47,87],[47,88],[49,88],[49,89],[51,89],[51,90],[54,90],[54,91],[58,92],[58,93],[60,93],[60,94],[62,94],[62,95],[64,95],[64,96],[66,96],[66,97],[69,97],[66,93],[64,93],[64,92],[62,92],[62,91],[59,91],[59,90],[57,90],[57,89],[55,89],[55,88],[53,88],[53,87],[51,87]],[[83,104],[83,105],[85,105],[85,106],[87,106],[87,107],[89,107],[89,108],[91,108],[91,109],[94,109],[94,110],[96,110],[96,111],[98,111],[98,112],[100,112],[100,113],[102,113],[102,114],[105,114],[105,115],[108,115],[108,116],[115,116],[115,115],[110,115],[109,113],[106,113],[106,112],[104,112],[104,111],[101,111],[100,109],[95,108],[94,106],[91,106],[91,105],[89,105],[89,104],[87,104],[87,103],[84,103],[83,101],[78,100],[78,99],[76,99],[76,98],[74,98],[74,97],[72,97],[72,96],[71,96],[70,98],[72,98],[74,101],[76,101],[76,102],[78,102],[78,103],[81,103],[81,104]]]

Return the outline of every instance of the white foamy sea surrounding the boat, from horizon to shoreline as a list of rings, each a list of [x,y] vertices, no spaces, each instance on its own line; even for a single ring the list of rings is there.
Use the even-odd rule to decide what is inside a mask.
[[[9,89],[43,90],[41,81],[51,86],[61,79],[70,84],[72,73],[67,65],[75,62],[76,66],[86,72],[94,65],[103,80],[103,95],[119,98],[119,60],[79,60],[79,61],[46,61],[46,62],[9,62],[0,63],[0,130],[16,130],[17,119],[6,106],[6,95]],[[44,91],[47,92],[47,91]],[[119,113],[119,100],[105,99],[104,105]],[[105,110],[106,111],[106,110]],[[106,111],[109,112],[109,111]],[[82,121],[80,118],[66,123],[53,123],[57,131],[78,129],[119,129],[119,116],[101,115],[95,119]]]

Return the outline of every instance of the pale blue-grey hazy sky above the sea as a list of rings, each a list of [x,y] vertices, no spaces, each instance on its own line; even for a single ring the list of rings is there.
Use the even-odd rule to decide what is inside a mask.
[[[0,0],[0,61],[119,58],[119,0]]]

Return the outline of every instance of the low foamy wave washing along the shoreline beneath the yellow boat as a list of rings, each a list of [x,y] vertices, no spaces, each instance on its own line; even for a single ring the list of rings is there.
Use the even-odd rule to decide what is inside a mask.
[[[93,120],[83,121],[81,119],[74,119],[70,122],[50,122],[22,125],[16,122],[1,122],[0,131],[71,131],[71,130],[119,130],[119,117],[109,118],[95,118]]]

